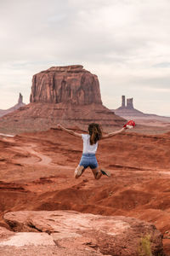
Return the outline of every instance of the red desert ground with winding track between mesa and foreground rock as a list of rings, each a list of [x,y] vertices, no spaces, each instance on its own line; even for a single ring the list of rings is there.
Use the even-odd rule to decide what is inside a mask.
[[[137,125],[99,142],[99,166],[111,177],[95,180],[87,169],[75,179],[81,138],[57,129],[0,135],[0,225],[10,230],[4,213],[24,210],[139,218],[161,231],[170,255],[169,145],[168,126]]]

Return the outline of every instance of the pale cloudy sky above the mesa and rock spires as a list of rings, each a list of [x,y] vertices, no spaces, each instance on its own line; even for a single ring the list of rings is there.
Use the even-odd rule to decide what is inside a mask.
[[[29,103],[31,79],[82,65],[102,102],[170,116],[169,0],[0,0],[0,109]]]

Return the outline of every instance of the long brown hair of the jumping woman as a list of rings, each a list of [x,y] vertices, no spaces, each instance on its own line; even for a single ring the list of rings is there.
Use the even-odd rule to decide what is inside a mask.
[[[92,123],[88,125],[88,131],[90,135],[90,145],[97,143],[102,137],[102,128],[99,124]]]

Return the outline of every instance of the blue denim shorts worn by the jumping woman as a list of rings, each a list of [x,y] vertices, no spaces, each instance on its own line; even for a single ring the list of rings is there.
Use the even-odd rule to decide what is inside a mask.
[[[88,168],[95,169],[98,167],[98,162],[96,160],[95,154],[82,154],[79,166],[83,166],[84,169]]]

